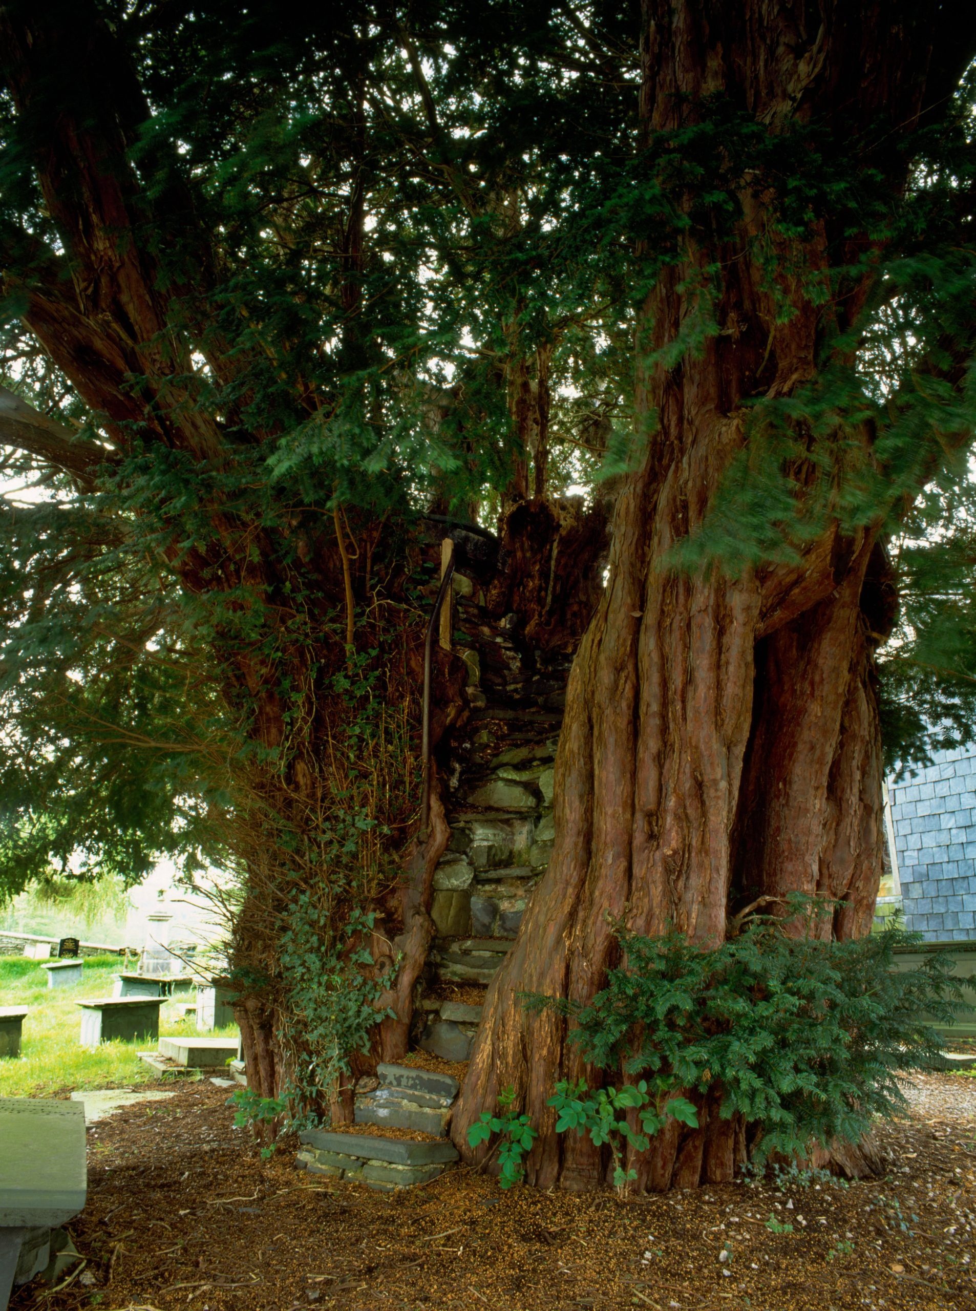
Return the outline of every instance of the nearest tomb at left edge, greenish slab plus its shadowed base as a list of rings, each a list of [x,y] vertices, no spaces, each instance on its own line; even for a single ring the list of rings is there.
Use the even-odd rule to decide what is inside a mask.
[[[50,1259],[51,1230],[83,1210],[85,1112],[80,1103],[0,1097],[0,1311],[10,1289]]]

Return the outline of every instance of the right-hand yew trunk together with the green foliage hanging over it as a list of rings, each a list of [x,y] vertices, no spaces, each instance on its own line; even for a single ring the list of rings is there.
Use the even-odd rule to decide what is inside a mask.
[[[976,25],[958,17],[643,7],[645,149],[620,205],[639,243],[646,447],[570,678],[552,861],[490,986],[452,1129],[466,1148],[514,1089],[540,1130],[538,1186],[607,1176],[605,1150],[557,1137],[549,1099],[592,1083],[567,1015],[603,986],[621,927],[714,947],[743,912],[806,894],[837,906],[814,932],[870,928],[887,540],[956,509],[976,418],[972,98],[958,94]],[[943,560],[956,586],[969,535]],[[931,551],[903,561],[921,617]],[[931,641],[959,619],[951,593],[931,597]],[[922,646],[895,665],[903,720]],[[972,673],[966,625],[954,667]],[[525,1009],[525,994],[561,1004]],[[672,1120],[634,1154],[641,1186],[734,1177],[744,1141],[719,1103],[706,1093],[698,1126]]]

